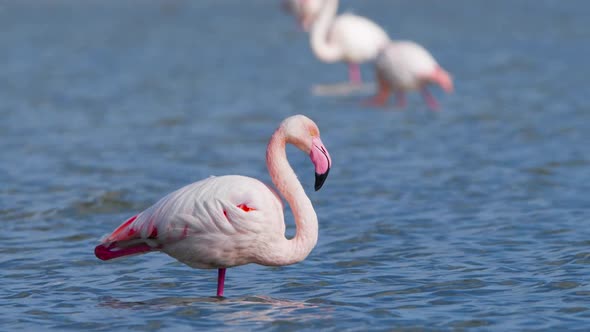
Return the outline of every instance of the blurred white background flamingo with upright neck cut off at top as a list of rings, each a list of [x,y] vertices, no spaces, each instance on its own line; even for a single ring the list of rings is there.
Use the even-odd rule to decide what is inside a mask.
[[[374,60],[390,39],[375,22],[349,13],[336,17],[337,11],[338,0],[323,0],[311,26],[311,48],[323,62],[348,63],[350,82],[360,84],[359,64]]]

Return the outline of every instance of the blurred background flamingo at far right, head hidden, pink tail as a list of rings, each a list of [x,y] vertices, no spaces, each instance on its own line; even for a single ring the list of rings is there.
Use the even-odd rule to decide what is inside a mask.
[[[411,41],[392,41],[377,56],[375,61],[378,91],[369,101],[383,106],[392,92],[397,106],[406,106],[405,92],[420,90],[426,104],[436,111],[439,104],[428,91],[427,85],[438,84],[444,91],[453,91],[453,79],[422,46]]]

